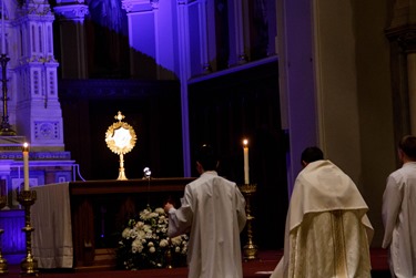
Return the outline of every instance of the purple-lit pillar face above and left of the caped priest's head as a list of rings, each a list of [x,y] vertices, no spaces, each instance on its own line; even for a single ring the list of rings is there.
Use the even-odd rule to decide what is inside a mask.
[[[313,69],[312,1],[283,1],[283,31],[280,70],[286,75],[283,92],[286,99],[286,123],[290,154],[287,156],[288,192],[301,171],[301,153],[310,145],[317,145],[317,119]],[[283,56],[280,53],[280,56]],[[284,111],[284,110],[283,110]]]

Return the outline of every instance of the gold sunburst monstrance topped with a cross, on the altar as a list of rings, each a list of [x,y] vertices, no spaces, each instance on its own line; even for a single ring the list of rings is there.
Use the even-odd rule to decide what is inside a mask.
[[[125,116],[119,111],[114,116],[119,122],[113,123],[105,133],[106,146],[120,156],[118,179],[128,179],[124,172],[124,154],[133,150],[136,141],[133,127],[121,121],[124,117]]]

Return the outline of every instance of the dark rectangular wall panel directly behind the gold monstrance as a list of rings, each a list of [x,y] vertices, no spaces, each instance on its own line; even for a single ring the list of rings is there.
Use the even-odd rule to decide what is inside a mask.
[[[124,155],[128,178],[183,176],[179,82],[62,80],[60,101],[64,144],[85,179],[116,179],[119,155],[106,146],[105,132],[119,111],[136,134]]]

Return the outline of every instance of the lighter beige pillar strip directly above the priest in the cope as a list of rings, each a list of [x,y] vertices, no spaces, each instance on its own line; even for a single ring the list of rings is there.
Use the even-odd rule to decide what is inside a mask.
[[[357,183],[361,119],[353,12],[351,1],[315,1],[314,64],[319,143],[326,157]]]

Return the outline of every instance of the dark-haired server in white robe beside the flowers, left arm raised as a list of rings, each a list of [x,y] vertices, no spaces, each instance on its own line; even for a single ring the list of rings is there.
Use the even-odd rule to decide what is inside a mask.
[[[164,206],[170,237],[190,233],[190,278],[242,278],[240,233],[246,223],[245,199],[235,183],[216,173],[214,151],[203,145],[197,153],[200,177],[187,184],[181,207]]]

